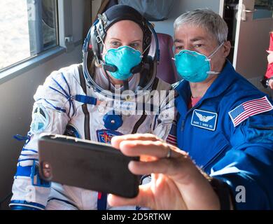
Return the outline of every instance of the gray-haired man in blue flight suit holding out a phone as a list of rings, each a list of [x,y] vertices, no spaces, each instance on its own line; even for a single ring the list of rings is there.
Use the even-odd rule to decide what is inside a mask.
[[[109,203],[151,209],[273,209],[272,100],[239,75],[226,59],[228,27],[207,9],[174,22],[176,69],[183,80],[177,141],[151,134],[115,137],[112,144],[134,174],[151,173],[134,199],[111,195]],[[145,147],[144,147],[145,146]]]

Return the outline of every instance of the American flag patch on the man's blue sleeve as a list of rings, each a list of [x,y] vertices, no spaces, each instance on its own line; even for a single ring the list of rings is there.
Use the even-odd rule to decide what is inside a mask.
[[[262,97],[260,99],[253,99],[248,102],[244,102],[228,113],[234,127],[236,127],[247,118],[259,113],[271,111],[272,109],[273,106],[270,104],[267,97]]]

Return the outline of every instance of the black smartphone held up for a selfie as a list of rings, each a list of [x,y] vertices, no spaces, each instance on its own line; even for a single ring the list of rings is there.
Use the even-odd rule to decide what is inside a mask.
[[[64,135],[38,139],[39,174],[45,181],[121,197],[136,197],[139,177],[128,169],[131,160],[109,144]]]

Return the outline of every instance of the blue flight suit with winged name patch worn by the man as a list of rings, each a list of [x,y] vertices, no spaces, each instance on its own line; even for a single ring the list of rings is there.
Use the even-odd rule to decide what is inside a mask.
[[[188,109],[191,97],[188,81],[182,80],[175,88],[179,92],[176,97],[179,148],[188,152],[204,172],[228,183],[236,209],[273,209],[272,99],[267,97],[267,105],[250,109],[265,112],[249,117],[244,113],[247,119],[234,125],[232,119],[243,113],[242,104],[266,95],[240,76],[228,61],[192,109]],[[262,109],[266,106],[267,111]]]

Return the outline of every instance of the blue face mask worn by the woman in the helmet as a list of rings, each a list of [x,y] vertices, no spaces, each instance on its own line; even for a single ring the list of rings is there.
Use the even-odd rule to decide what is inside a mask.
[[[131,69],[140,64],[142,56],[139,50],[129,46],[121,46],[107,50],[104,59],[106,64],[117,67],[117,71],[110,71],[113,78],[127,80],[132,76]]]

